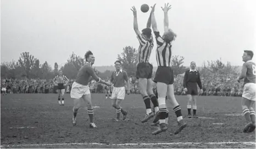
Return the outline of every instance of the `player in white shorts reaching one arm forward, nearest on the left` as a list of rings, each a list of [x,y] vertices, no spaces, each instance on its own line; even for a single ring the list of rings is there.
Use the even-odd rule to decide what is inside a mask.
[[[86,64],[80,68],[76,76],[76,80],[72,85],[70,96],[74,99],[73,107],[73,126],[76,125],[76,115],[80,108],[85,107],[87,104],[87,112],[90,118],[90,128],[96,128],[96,125],[93,123],[93,108],[92,108],[92,99],[90,93],[90,87],[88,82],[92,79],[97,82],[110,86],[107,82],[103,81],[101,78],[98,78],[94,72],[92,65],[94,64],[95,58],[91,51],[87,51],[85,54]]]

